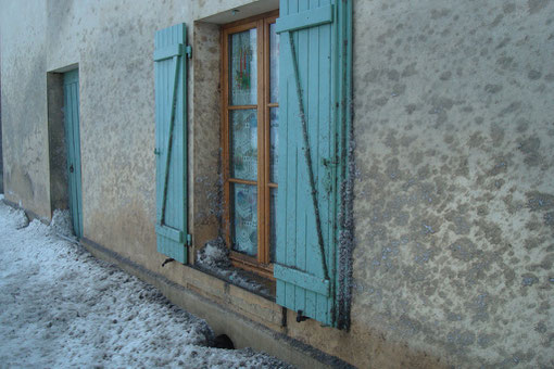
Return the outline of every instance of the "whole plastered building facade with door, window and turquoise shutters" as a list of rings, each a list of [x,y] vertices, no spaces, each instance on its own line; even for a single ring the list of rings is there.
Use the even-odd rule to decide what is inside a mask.
[[[8,202],[298,366],[554,366],[553,1],[0,9]]]

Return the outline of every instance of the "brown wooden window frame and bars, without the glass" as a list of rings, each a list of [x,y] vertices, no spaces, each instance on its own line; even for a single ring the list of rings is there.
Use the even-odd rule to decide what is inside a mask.
[[[269,181],[269,148],[270,148],[270,107],[278,107],[277,102],[270,102],[269,90],[269,25],[275,23],[279,11],[273,11],[242,21],[222,26],[222,171],[224,179],[224,233],[230,250],[234,266],[253,271],[274,280],[273,264],[270,264],[269,227],[270,227],[270,189],[277,183]],[[255,105],[229,105],[229,35],[248,29],[256,29],[257,56],[257,97]],[[234,110],[255,109],[257,112],[257,179],[243,180],[230,178],[229,162],[229,112]],[[261,124],[263,123],[263,124]],[[250,184],[257,189],[257,256],[252,257],[232,250],[230,242],[230,184]]]

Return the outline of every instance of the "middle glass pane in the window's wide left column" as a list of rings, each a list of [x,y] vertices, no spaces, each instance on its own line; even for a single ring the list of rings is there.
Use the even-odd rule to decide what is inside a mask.
[[[231,178],[257,180],[256,111],[230,111],[229,136]]]

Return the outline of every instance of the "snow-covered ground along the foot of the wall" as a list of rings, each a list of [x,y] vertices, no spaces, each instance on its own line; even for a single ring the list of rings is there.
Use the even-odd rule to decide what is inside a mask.
[[[2,198],[1,368],[289,368],[252,349],[209,347],[204,320],[64,239],[67,214],[29,224]]]

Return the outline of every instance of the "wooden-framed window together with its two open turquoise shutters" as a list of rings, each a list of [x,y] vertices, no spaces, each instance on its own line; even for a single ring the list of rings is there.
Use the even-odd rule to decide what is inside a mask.
[[[279,5],[278,20],[222,29],[225,234],[235,265],[274,279],[275,302],[298,320],[348,329],[352,1]],[[154,42],[158,250],[180,263],[190,240],[186,39],[180,24]]]

